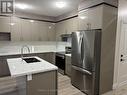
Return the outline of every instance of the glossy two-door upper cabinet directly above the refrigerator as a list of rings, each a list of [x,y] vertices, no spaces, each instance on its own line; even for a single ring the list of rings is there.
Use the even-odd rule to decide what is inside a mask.
[[[101,29],[103,6],[89,8],[78,14],[78,30]]]

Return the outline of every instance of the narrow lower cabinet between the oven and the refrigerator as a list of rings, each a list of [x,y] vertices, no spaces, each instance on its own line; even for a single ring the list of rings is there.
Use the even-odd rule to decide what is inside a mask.
[[[71,56],[66,56],[66,69],[65,69],[65,73],[68,75],[68,76],[71,76]]]

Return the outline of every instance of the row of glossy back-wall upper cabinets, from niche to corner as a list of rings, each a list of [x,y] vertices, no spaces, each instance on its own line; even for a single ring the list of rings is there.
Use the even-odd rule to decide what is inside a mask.
[[[12,41],[55,41],[55,24],[11,17]]]

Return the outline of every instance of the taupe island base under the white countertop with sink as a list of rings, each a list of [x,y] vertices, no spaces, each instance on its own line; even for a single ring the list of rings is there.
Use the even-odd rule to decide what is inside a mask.
[[[48,71],[16,78],[18,95],[58,95],[57,71]]]

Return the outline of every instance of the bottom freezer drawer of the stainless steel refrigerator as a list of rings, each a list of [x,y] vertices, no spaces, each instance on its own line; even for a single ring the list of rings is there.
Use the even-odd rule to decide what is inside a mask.
[[[72,66],[71,83],[73,86],[88,95],[93,94],[93,75]]]

